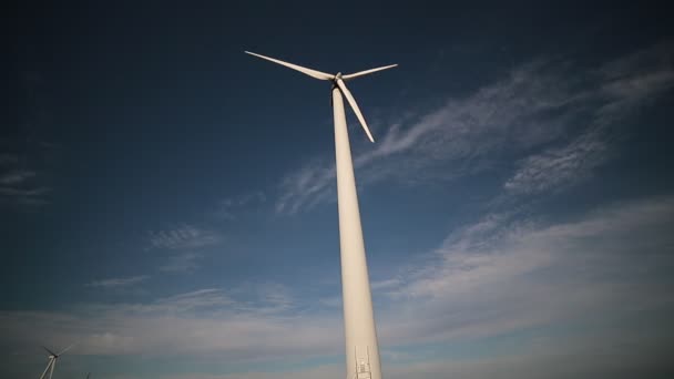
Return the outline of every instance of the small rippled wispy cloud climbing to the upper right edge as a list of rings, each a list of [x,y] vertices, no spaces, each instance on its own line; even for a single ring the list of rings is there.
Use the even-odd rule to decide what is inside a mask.
[[[598,74],[599,90],[585,96],[585,101],[600,103],[586,120],[588,130],[568,144],[523,158],[504,187],[511,193],[532,194],[590,177],[615,155],[611,126],[674,88],[673,47],[657,44],[604,64]]]

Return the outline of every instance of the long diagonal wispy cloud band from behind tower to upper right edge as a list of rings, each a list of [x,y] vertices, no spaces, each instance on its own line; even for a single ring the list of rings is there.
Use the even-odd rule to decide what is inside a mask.
[[[449,181],[518,161],[518,171],[506,184],[513,193],[579,183],[612,157],[607,127],[621,124],[674,84],[667,47],[656,45],[595,70],[562,60],[519,66],[472,94],[392,123],[375,145],[368,145],[371,150],[356,150],[358,184]],[[549,168],[562,173],[555,177],[545,172]],[[309,160],[282,178],[276,211],[293,214],[334,201],[334,182],[331,156]]]

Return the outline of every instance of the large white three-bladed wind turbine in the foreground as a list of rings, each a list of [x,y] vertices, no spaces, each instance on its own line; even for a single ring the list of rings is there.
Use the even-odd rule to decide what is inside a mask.
[[[296,64],[246,51],[255,55],[319,80],[333,83],[333,112],[335,117],[335,155],[337,166],[337,204],[339,209],[339,248],[341,256],[341,296],[344,303],[344,329],[346,335],[347,379],[381,379],[381,363],[377,330],[372,313],[372,298],[367,273],[367,259],[358,211],[358,195],[351,162],[351,148],[346,127],[341,95],[351,105],[370,142],[375,142],[356,100],[345,81],[395,68],[397,64],[356,72],[348,75],[328,74]]]

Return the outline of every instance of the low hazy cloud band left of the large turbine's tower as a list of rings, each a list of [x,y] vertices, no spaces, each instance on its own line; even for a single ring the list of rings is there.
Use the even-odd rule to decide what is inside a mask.
[[[225,360],[287,356],[307,348],[338,351],[339,319],[290,316],[285,287],[249,293],[205,288],[147,304],[90,304],[68,313],[0,313],[7,341],[78,340],[79,354],[217,354]],[[253,300],[256,300],[257,306]],[[50,331],[51,330],[51,331]],[[41,341],[41,342],[39,342]],[[251,358],[257,357],[257,358]]]

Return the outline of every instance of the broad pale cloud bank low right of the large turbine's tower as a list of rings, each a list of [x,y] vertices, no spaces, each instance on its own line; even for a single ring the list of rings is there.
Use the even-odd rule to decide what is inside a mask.
[[[674,266],[666,232],[673,198],[615,204],[564,223],[514,219],[491,215],[460,228],[401,274],[388,290],[402,306],[385,313],[385,340],[472,339],[672,305],[674,283],[663,279]]]

